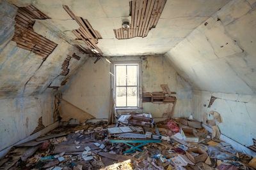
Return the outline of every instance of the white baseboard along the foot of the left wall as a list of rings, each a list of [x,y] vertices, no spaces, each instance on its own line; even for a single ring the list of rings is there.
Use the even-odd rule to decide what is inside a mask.
[[[21,143],[25,143],[25,142],[27,142],[27,141],[31,141],[31,140],[33,140],[33,139],[36,139],[36,138],[38,138],[39,136],[41,136],[42,134],[45,134],[45,133],[51,131],[52,129],[55,129],[55,128],[58,127],[58,126],[59,126],[59,122],[55,122],[54,124],[51,124],[51,125],[45,127],[45,128],[42,129],[41,131],[38,131],[38,132],[36,132],[35,134],[31,134],[31,136],[28,136],[27,138],[24,138],[24,139],[22,139],[21,141],[18,141],[17,143],[14,143],[13,145],[9,146],[8,148],[4,148],[3,150],[0,151],[0,159],[3,158],[3,157],[6,155],[6,153],[8,153],[9,150],[10,150],[13,146],[19,145],[19,144],[21,144]]]

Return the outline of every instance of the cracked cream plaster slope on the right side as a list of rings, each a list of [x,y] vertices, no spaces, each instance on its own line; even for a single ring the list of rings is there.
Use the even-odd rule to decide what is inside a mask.
[[[255,6],[255,0],[230,1],[166,53],[193,89],[255,94]]]

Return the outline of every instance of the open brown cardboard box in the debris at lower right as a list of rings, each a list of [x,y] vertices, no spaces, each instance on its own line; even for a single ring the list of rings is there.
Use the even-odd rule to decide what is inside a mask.
[[[194,153],[198,153],[198,155],[195,155]],[[201,148],[191,148],[186,151],[186,156],[196,164],[198,162],[204,162],[207,159],[208,154]]]

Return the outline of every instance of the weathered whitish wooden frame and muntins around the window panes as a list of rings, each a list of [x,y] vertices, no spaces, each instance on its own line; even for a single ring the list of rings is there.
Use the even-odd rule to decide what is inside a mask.
[[[113,98],[115,99],[115,108],[116,110],[138,110],[142,106],[142,90],[141,90],[141,76],[142,76],[142,71],[141,71],[141,61],[136,60],[136,61],[111,61],[111,72],[114,74],[112,76],[112,89],[113,89]],[[126,100],[126,106],[116,106],[116,66],[137,66],[137,85],[126,85],[125,86],[118,86],[118,87],[126,87],[126,94],[127,94],[127,87],[137,87],[137,106],[127,106],[127,100]],[[127,95],[126,95],[127,99]]]

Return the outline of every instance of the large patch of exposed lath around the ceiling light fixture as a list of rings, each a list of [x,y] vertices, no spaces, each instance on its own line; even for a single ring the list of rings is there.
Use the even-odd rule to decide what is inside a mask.
[[[150,29],[156,27],[166,0],[130,1],[131,24],[127,29],[114,29],[117,39],[145,37]]]

